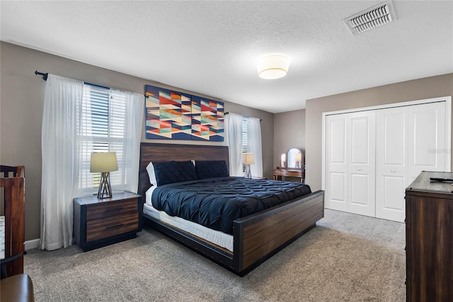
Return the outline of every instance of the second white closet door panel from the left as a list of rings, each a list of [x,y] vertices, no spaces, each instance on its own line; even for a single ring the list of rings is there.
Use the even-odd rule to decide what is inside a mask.
[[[372,216],[375,212],[376,111],[349,113],[348,211]]]

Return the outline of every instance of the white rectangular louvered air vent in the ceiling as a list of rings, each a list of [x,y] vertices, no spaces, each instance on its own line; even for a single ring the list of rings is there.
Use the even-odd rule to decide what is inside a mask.
[[[348,26],[352,35],[358,35],[359,33],[364,33],[367,30],[390,23],[395,19],[394,7],[391,1],[387,1],[374,6],[372,9],[367,9],[354,16],[350,16],[343,20],[343,22]]]

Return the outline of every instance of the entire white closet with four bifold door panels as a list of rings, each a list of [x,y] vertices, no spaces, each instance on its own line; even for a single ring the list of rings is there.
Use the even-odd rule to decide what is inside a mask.
[[[451,97],[325,113],[326,208],[403,222],[421,171],[450,171]]]

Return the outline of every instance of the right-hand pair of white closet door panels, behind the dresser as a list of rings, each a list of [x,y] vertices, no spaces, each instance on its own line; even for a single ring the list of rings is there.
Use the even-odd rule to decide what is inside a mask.
[[[376,217],[403,222],[404,193],[422,171],[448,171],[445,102],[377,112]]]

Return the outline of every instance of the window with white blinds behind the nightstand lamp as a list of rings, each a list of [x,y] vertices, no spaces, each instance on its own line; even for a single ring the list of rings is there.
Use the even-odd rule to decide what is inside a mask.
[[[101,175],[90,172],[91,152],[116,152],[118,168],[110,173],[112,188],[125,185],[123,143],[125,138],[126,98],[121,91],[101,86],[84,85],[81,105],[79,155],[79,193],[92,194],[99,186]]]

